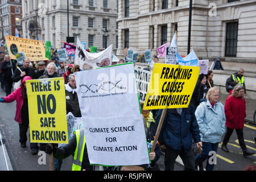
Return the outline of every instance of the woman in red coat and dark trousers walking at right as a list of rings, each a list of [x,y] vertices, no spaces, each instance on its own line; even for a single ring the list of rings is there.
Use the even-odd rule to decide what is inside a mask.
[[[254,152],[247,150],[245,140],[243,139],[243,122],[246,117],[245,109],[245,87],[241,84],[237,84],[230,96],[226,99],[225,115],[226,115],[226,134],[223,140],[221,149],[225,152],[229,152],[226,144],[229,142],[229,138],[235,129],[239,144],[243,151],[243,156],[253,155]]]

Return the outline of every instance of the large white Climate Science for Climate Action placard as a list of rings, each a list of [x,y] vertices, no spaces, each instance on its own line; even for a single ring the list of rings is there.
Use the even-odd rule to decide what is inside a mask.
[[[76,72],[75,77],[90,164],[149,164],[133,63]]]

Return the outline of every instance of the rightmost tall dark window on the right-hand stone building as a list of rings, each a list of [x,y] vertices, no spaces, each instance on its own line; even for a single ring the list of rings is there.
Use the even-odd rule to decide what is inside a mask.
[[[225,56],[237,56],[238,22],[226,23],[226,51]]]

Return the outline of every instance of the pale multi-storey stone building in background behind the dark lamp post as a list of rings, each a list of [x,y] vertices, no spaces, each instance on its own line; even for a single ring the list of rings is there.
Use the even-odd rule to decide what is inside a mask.
[[[23,38],[51,41],[54,48],[63,46],[68,36],[79,36],[88,46],[104,49],[117,38],[116,0],[22,0]],[[67,6],[68,5],[68,6]],[[36,26],[38,22],[38,26]],[[37,30],[37,31],[36,31]],[[37,32],[37,34],[36,34]],[[38,36],[36,36],[38,35]]]

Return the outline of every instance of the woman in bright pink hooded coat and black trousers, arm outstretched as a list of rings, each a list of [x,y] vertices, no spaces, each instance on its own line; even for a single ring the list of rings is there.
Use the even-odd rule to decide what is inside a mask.
[[[0,102],[7,103],[16,100],[16,114],[14,120],[19,123],[19,142],[22,147],[26,147],[29,125],[26,80],[31,79],[30,76],[25,76],[18,89],[14,90],[9,96],[0,98]],[[39,147],[37,143],[30,143],[30,148],[33,155],[38,153]]]

